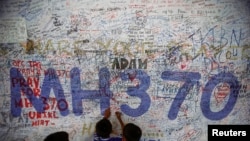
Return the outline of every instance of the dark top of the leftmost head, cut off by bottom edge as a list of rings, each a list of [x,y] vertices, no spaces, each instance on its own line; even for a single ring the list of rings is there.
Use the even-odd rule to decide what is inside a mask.
[[[69,141],[69,134],[65,131],[59,131],[49,134],[44,141]]]

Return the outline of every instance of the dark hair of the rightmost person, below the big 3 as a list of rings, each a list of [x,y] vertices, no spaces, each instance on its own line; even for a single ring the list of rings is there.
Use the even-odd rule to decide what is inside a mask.
[[[126,141],[139,141],[142,136],[141,128],[133,123],[128,123],[123,128]]]

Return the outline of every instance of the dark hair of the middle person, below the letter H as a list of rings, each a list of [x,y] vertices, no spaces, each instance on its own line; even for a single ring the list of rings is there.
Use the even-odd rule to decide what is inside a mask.
[[[96,123],[95,129],[97,136],[108,138],[112,132],[112,124],[108,119],[103,118]]]

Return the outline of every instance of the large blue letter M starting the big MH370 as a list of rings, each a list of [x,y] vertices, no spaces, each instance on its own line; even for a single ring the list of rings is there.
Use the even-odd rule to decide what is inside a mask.
[[[25,94],[35,110],[42,113],[45,111],[46,105],[48,104],[47,99],[49,98],[51,89],[53,89],[54,91],[56,100],[58,102],[57,106],[60,109],[61,115],[68,115],[68,105],[65,100],[64,91],[62,89],[58,76],[55,75],[56,72],[54,69],[48,69],[47,73],[48,74],[45,75],[43,85],[41,87],[41,95],[35,96],[33,90],[29,87],[28,82],[25,80],[21,72],[17,68],[10,69],[11,114],[14,117],[18,117],[21,115],[23,106],[21,92]]]

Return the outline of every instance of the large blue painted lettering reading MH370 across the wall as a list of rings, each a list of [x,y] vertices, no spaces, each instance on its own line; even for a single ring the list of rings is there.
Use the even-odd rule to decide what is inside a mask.
[[[110,98],[113,93],[110,91],[110,72],[107,68],[100,69],[99,72],[99,89],[98,90],[82,90],[80,70],[73,68],[70,72],[71,77],[71,94],[72,94],[72,107],[73,113],[77,116],[83,114],[83,99],[100,99],[100,107],[102,114],[110,107]],[[172,72],[164,71],[161,75],[163,80],[169,81],[183,81],[185,82],[182,87],[178,90],[176,97],[170,107],[168,118],[173,120],[177,117],[179,108],[187,96],[189,90],[194,85],[199,85],[200,74],[197,72]],[[37,112],[44,112],[46,106],[48,106],[47,99],[49,98],[50,91],[53,89],[57,106],[61,112],[61,115],[66,116],[69,114],[67,101],[64,96],[64,91],[60,84],[59,78],[54,69],[48,69],[45,73],[43,84],[41,86],[41,94],[35,95],[32,88],[29,86],[30,83],[25,80],[24,76],[17,68],[10,69],[11,79],[11,113],[14,117],[21,115],[22,109],[22,94],[27,97],[31,102],[32,106]],[[147,94],[147,89],[150,86],[150,77],[142,70],[128,70],[121,73],[121,79],[133,80],[138,79],[140,83],[137,86],[128,87],[127,94],[133,97],[140,98],[141,102],[137,108],[131,108],[127,104],[121,105],[121,110],[125,114],[138,117],[148,111],[150,107],[150,96]],[[220,83],[227,83],[230,87],[229,99],[225,107],[219,112],[213,112],[210,109],[210,99],[214,88]],[[205,85],[202,93],[200,107],[205,117],[211,120],[220,120],[225,118],[234,108],[239,94],[239,82],[237,77],[231,73],[219,73],[208,81]]]

